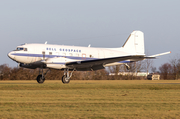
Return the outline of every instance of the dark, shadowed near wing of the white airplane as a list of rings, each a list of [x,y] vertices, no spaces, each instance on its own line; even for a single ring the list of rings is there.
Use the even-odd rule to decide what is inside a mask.
[[[103,58],[103,59],[94,59],[94,60],[84,60],[84,61],[76,61],[66,63],[66,66],[69,68],[75,68],[76,70],[98,70],[103,69],[104,65],[114,62],[122,62],[122,61],[138,61],[143,60],[149,57],[144,56],[121,56],[121,57],[111,57],[111,58]],[[150,57],[151,59],[154,57]],[[125,62],[124,62],[125,63]]]

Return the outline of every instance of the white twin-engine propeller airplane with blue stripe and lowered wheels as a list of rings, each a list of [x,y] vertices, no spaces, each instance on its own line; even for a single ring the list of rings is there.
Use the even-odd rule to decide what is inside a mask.
[[[155,59],[157,56],[169,53],[171,52],[146,56],[144,33],[133,31],[124,45],[118,48],[50,45],[46,42],[45,44],[17,46],[16,50],[8,53],[8,57],[19,63],[20,67],[39,68],[39,75],[36,79],[38,83],[45,81],[45,75],[50,69],[64,70],[62,83],[67,84],[74,71],[95,71],[119,64],[124,64],[129,69],[127,63]],[[44,73],[43,69],[48,70]]]

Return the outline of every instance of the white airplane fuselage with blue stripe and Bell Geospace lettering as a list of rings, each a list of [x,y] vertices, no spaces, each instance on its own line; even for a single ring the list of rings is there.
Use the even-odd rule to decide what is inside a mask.
[[[102,59],[109,57],[131,55],[123,48],[92,48],[49,44],[25,44],[18,46],[8,56],[18,63],[30,64],[38,61],[44,62],[49,68],[66,68],[65,63],[73,61]],[[42,61],[43,60],[43,61]],[[106,66],[117,65],[124,62],[115,62]]]

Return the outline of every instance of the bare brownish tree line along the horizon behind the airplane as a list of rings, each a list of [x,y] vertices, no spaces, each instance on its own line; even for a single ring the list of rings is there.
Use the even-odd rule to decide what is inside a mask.
[[[130,67],[127,69],[127,67]],[[152,72],[161,75],[164,80],[177,80],[180,78],[180,59],[174,58],[169,62],[162,64],[159,68],[153,66],[153,60],[143,60],[126,65],[111,66],[106,69],[97,71],[75,71],[72,75],[72,80],[137,80],[146,79],[131,75],[137,72]],[[128,75],[118,75],[119,72],[131,72]],[[115,75],[109,76],[109,73]],[[26,69],[20,67],[9,67],[7,64],[0,65],[0,80],[36,80],[39,74],[39,69]],[[51,69],[47,73],[48,80],[61,80],[64,71]]]

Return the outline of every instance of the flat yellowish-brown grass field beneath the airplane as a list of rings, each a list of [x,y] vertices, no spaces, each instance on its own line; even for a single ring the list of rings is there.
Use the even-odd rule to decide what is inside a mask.
[[[0,81],[0,118],[180,118],[180,80]]]

